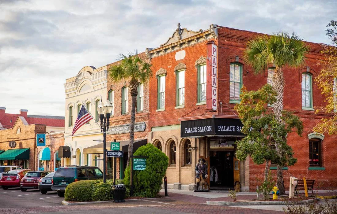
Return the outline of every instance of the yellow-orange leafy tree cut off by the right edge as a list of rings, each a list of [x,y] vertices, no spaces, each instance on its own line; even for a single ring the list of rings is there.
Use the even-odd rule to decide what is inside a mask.
[[[318,88],[325,96],[326,106],[316,107],[316,113],[323,112],[331,115],[329,118],[322,118],[313,130],[315,132],[328,132],[330,135],[337,134],[337,22],[332,20],[327,27],[327,36],[332,41],[332,46],[327,46],[322,53],[326,59],[319,62],[323,67],[319,75],[315,78]]]

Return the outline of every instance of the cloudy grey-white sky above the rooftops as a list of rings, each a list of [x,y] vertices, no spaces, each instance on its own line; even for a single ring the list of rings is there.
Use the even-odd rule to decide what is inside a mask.
[[[294,3],[296,2],[296,3]],[[64,116],[65,79],[210,24],[330,43],[336,0],[0,0],[0,107]]]

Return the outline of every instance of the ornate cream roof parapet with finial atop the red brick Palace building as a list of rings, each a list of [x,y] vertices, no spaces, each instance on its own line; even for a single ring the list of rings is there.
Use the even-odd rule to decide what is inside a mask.
[[[156,48],[146,48],[145,53],[147,57],[151,59],[153,57],[193,45],[195,43],[216,38],[218,36],[217,27],[218,25],[212,24],[208,30],[203,31],[200,29],[198,31],[192,31],[187,30],[186,28],[181,29],[180,23],[178,23],[178,28],[165,43],[160,44],[160,46]]]

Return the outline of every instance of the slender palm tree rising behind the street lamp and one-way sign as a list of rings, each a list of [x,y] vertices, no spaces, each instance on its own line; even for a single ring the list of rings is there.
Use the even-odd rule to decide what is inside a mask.
[[[129,89],[131,95],[131,118],[130,118],[130,142],[128,149],[127,166],[129,166],[130,156],[133,148],[134,139],[134,120],[136,112],[136,99],[138,95],[137,87],[140,83],[147,83],[152,77],[152,71],[149,63],[142,60],[137,52],[125,56],[119,55],[119,63],[109,69],[109,74],[114,81],[129,79]]]

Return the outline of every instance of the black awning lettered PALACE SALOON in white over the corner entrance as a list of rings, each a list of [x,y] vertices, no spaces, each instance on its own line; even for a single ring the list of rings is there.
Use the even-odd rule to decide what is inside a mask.
[[[181,137],[199,137],[209,135],[244,136],[243,124],[239,119],[207,118],[181,121]]]

